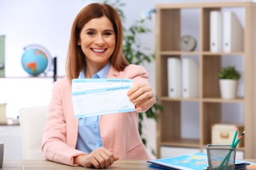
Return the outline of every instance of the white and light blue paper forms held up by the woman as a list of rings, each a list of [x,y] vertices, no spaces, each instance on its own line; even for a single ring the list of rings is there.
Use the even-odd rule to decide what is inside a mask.
[[[131,79],[73,79],[72,102],[75,118],[134,111],[135,105],[126,94],[132,86]]]

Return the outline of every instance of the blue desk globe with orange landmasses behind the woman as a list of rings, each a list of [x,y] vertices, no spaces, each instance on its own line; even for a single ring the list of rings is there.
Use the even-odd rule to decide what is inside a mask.
[[[27,46],[22,54],[22,67],[32,76],[44,73],[49,66],[51,56],[42,46]]]

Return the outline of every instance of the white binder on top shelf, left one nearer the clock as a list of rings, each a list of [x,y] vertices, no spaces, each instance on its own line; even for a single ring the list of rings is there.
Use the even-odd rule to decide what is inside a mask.
[[[219,10],[210,12],[210,51],[223,52],[223,14]]]

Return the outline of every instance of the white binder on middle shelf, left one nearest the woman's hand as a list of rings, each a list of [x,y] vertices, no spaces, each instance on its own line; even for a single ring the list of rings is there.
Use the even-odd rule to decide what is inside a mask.
[[[167,59],[168,96],[171,98],[181,97],[181,59]]]

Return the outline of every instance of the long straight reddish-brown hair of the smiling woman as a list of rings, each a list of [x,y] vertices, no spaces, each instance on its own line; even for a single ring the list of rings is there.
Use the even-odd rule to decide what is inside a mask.
[[[91,3],[77,14],[72,25],[68,56],[66,58],[66,76],[70,80],[79,76],[79,73],[86,63],[85,54],[83,54],[81,46],[77,45],[81,29],[93,18],[101,18],[102,16],[106,16],[110,22],[112,22],[116,33],[116,47],[110,57],[110,63],[112,63],[118,71],[123,71],[123,69],[129,65],[123,56],[123,26],[119,14],[108,4]]]

